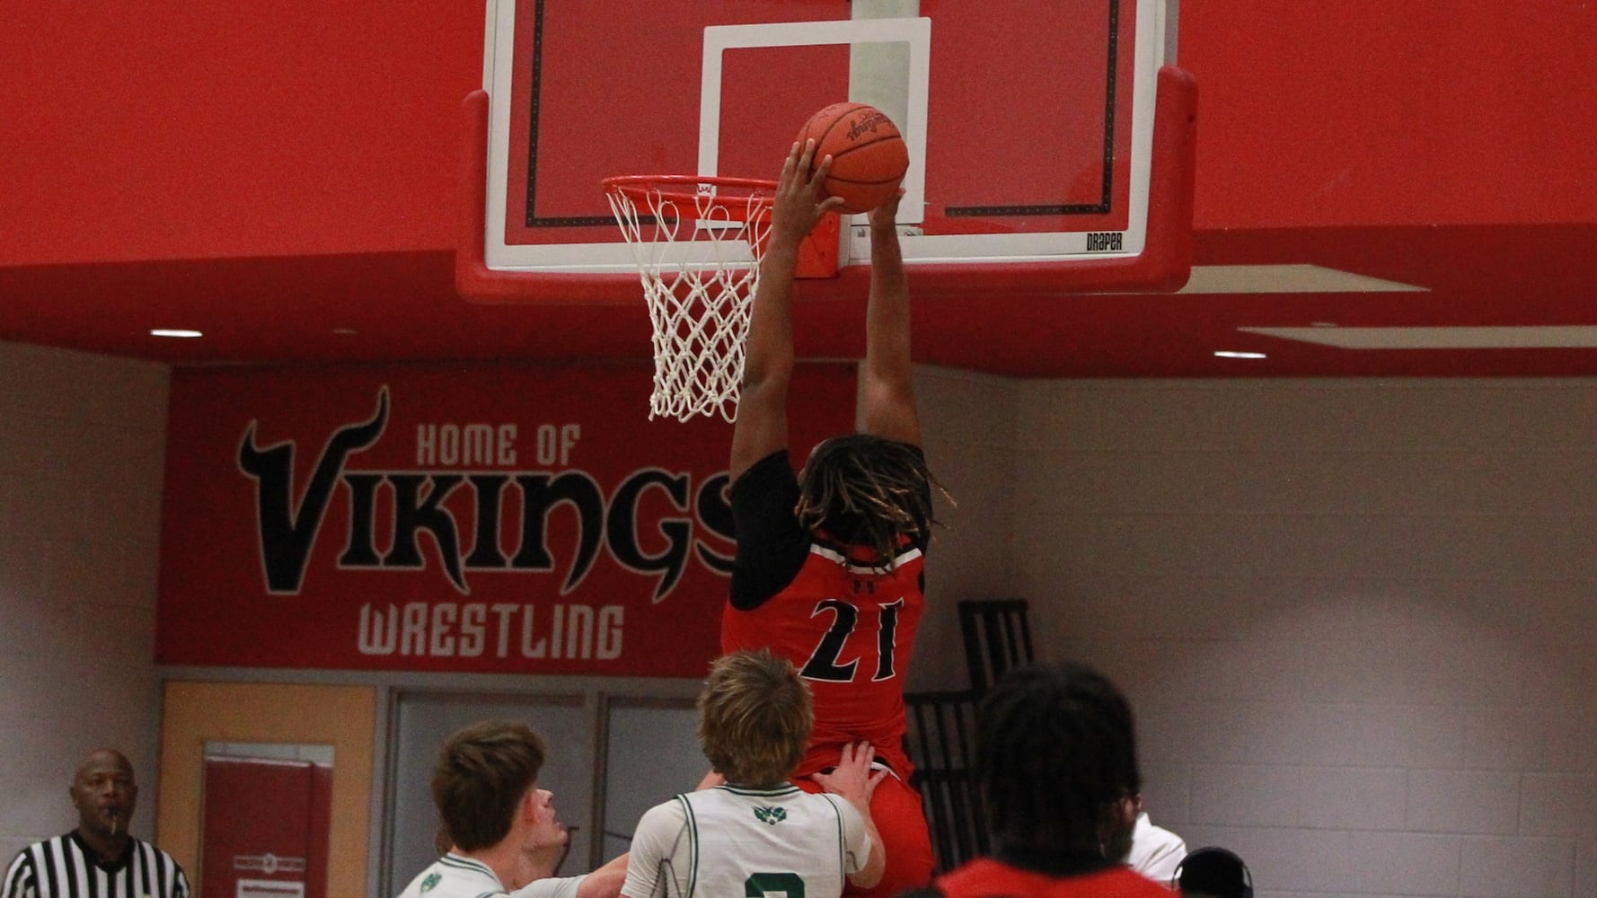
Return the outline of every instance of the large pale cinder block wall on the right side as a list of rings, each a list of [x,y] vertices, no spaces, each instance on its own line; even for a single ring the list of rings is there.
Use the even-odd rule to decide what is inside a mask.
[[[1019,590],[1156,823],[1262,898],[1597,895],[1597,380],[1017,393]]]

